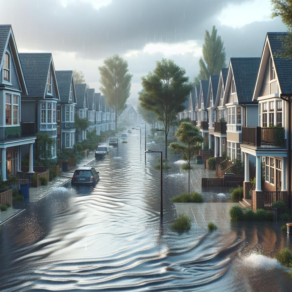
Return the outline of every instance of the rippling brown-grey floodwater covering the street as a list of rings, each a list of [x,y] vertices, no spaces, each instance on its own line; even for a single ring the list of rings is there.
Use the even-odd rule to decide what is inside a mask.
[[[94,188],[57,188],[2,225],[1,291],[291,291],[288,270],[273,259],[291,247],[281,224],[171,230],[170,198],[187,190],[178,164],[164,171],[160,221],[159,154],[147,154],[145,165],[139,138],[128,135],[92,162],[100,171]],[[206,201],[228,196],[210,191]]]

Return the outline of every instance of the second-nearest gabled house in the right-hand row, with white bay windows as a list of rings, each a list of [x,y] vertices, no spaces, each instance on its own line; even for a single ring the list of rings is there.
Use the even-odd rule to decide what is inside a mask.
[[[252,100],[260,58],[231,58],[228,68],[223,106],[227,117],[227,156],[241,155],[242,127],[258,125],[258,102]]]

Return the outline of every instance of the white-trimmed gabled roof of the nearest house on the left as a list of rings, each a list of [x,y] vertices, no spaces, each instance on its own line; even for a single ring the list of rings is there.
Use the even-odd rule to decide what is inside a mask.
[[[20,81],[20,86],[23,94],[27,94],[27,85],[25,83],[25,78],[22,70],[22,66],[19,59],[19,54],[17,50],[17,46],[14,39],[14,34],[12,31],[11,25],[0,25],[0,70],[2,70],[3,66],[3,55],[7,50],[7,46],[10,44],[12,49],[13,60],[15,62],[15,69],[18,74],[18,78]]]

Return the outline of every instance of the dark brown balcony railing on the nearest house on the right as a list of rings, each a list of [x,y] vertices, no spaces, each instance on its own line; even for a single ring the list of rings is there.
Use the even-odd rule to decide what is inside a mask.
[[[242,143],[256,148],[284,148],[284,128],[242,127]]]

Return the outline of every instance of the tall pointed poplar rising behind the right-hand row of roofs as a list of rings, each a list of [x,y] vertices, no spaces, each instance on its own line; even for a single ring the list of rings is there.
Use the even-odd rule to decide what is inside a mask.
[[[217,29],[213,25],[211,35],[206,30],[205,40],[202,48],[203,58],[199,60],[200,72],[194,79],[194,84],[199,84],[201,80],[208,80],[210,75],[220,73],[220,69],[226,67],[225,47],[221,36],[217,36]]]

